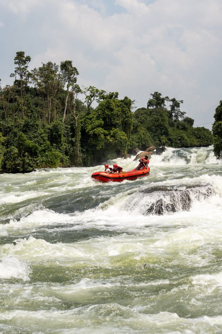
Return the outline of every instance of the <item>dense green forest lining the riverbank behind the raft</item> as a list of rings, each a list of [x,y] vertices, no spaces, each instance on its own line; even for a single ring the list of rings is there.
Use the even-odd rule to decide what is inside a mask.
[[[212,133],[193,127],[182,100],[154,92],[136,109],[129,97],[77,84],[71,60],[29,70],[24,51],[14,58],[13,85],[0,87],[0,171],[90,166],[155,145],[200,147]]]

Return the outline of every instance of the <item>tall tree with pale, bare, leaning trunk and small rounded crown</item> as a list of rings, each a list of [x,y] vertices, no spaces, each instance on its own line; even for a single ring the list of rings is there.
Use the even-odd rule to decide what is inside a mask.
[[[64,82],[67,82],[67,94],[66,94],[66,102],[65,102],[65,109],[63,113],[63,123],[66,117],[66,109],[67,109],[67,101],[69,96],[69,88],[73,86],[77,81],[77,75],[79,72],[76,67],[73,66],[72,60],[65,60],[61,61],[60,63],[60,70],[62,72],[62,76],[64,78]]]

